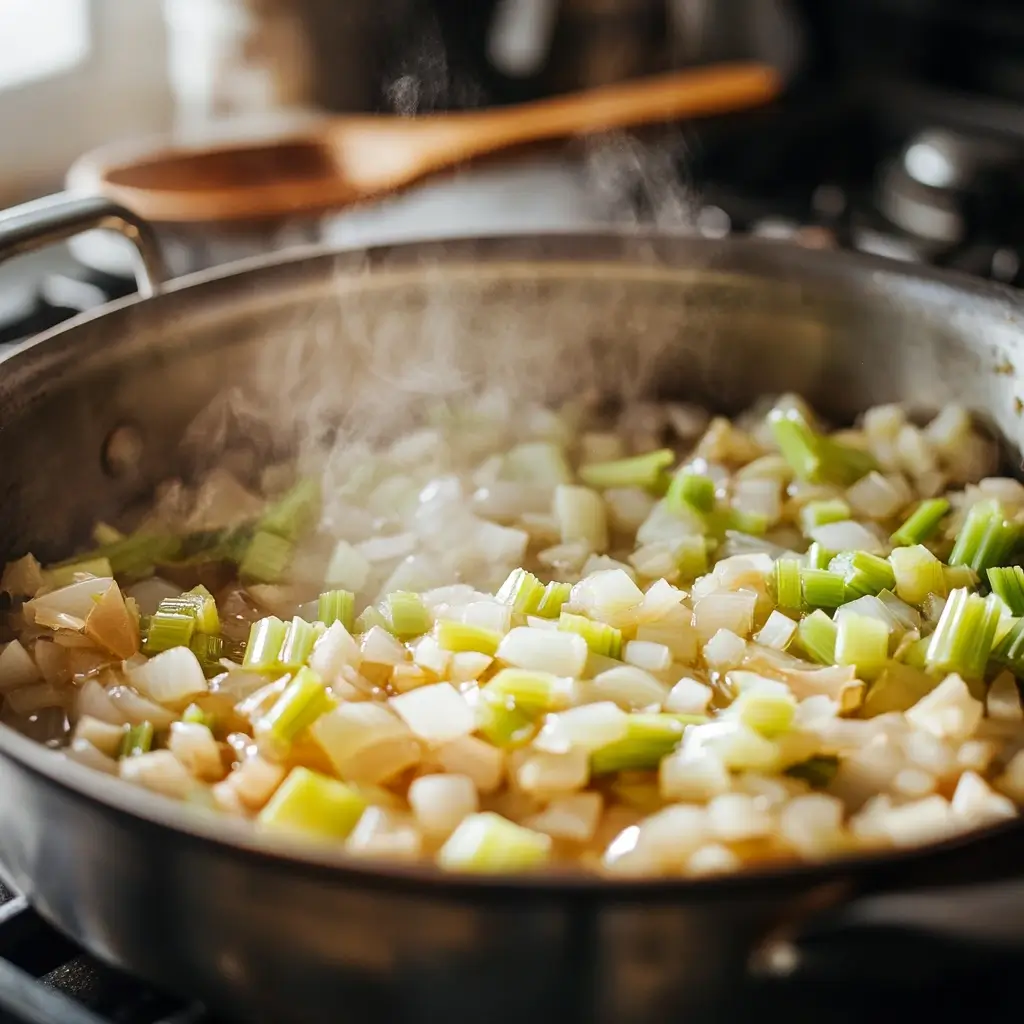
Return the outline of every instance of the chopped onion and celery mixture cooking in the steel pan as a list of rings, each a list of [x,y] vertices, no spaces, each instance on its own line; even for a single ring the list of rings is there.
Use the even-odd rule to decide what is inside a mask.
[[[3,720],[451,871],[701,876],[1024,804],[1024,486],[963,410],[481,400],[346,459],[9,563]]]

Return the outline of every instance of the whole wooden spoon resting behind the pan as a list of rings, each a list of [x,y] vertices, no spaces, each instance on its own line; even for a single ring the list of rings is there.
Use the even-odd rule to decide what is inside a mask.
[[[715,65],[522,106],[325,118],[301,135],[171,148],[115,165],[100,155],[87,176],[148,220],[259,220],[346,206],[525,142],[755,106],[779,88],[764,65]]]

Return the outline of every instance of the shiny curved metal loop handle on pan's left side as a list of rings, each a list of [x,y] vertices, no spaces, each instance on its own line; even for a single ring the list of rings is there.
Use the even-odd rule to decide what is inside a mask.
[[[157,234],[130,210],[98,196],[57,193],[0,212],[0,263],[83,231],[112,230],[135,247],[135,281],[143,298],[167,280]]]

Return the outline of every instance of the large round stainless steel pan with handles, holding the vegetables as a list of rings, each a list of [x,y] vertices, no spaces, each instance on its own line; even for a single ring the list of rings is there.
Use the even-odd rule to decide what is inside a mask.
[[[144,225],[67,200],[0,220],[0,257],[100,222],[140,242],[154,294],[4,360],[3,555],[66,553],[187,471],[186,424],[247,381],[283,427],[325,389],[344,426],[514,376],[538,394],[596,383],[727,409],[792,388],[840,417],[956,397],[1008,451],[1024,439],[1024,301],[946,274],[593,234],[319,251],[165,287]],[[444,374],[413,372],[427,356]],[[257,1021],[654,1024],[727,1013],[757,944],[824,907],[1012,877],[1024,829],[709,882],[444,878],[257,840],[0,727],[0,863],[99,956]]]

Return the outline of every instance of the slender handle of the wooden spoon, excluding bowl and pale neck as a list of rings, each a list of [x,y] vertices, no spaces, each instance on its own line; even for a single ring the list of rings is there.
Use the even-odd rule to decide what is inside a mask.
[[[450,116],[445,144],[465,159],[541,139],[559,138],[757,106],[781,88],[762,63],[721,63],[556,96],[507,110]],[[439,119],[428,118],[436,122]]]

